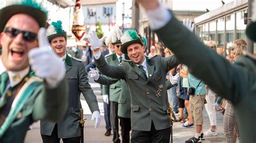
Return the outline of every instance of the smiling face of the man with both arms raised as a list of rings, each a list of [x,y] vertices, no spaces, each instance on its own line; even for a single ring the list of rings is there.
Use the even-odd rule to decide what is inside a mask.
[[[127,47],[127,55],[137,65],[142,65],[142,62],[145,60],[144,51],[145,47],[137,43]]]

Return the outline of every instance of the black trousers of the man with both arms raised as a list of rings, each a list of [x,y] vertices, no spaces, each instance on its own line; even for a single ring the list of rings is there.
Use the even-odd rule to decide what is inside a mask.
[[[165,142],[170,142],[170,135],[171,135],[171,127],[163,130],[156,130],[152,121],[150,131],[132,130],[131,142],[132,143],[137,143],[137,142],[138,143],[153,143],[153,142],[165,143]]]

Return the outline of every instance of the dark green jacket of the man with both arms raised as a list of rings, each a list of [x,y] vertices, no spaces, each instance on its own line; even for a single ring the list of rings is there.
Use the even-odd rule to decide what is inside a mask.
[[[131,95],[132,130],[150,131],[152,121],[156,130],[163,130],[170,127],[166,73],[177,66],[178,61],[174,56],[163,58],[159,55],[146,59],[149,77],[147,80],[131,61],[124,61],[120,66],[107,65],[103,56],[95,61],[104,75],[126,81]],[[157,94],[160,96],[157,97]]]

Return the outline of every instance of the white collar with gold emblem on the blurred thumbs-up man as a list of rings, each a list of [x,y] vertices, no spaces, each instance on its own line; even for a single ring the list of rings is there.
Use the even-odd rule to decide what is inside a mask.
[[[22,79],[28,75],[29,73],[29,67],[21,70],[21,71],[8,71],[7,72],[9,75],[9,80],[10,80],[10,85],[11,87],[14,87],[17,85],[19,82],[22,81]]]

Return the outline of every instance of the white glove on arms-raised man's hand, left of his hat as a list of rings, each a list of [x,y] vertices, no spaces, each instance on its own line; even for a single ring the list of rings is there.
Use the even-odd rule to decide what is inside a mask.
[[[92,33],[88,37],[88,40],[91,44],[91,49],[94,50],[94,49],[100,48],[100,46],[102,46],[103,41],[105,40],[105,38],[106,37],[103,37],[103,38],[99,39],[96,32],[92,31]]]

